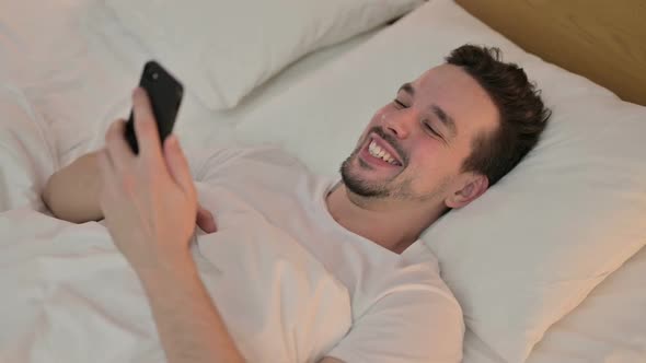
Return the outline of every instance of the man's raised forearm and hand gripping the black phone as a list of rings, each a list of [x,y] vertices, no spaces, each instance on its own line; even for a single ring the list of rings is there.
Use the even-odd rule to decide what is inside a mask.
[[[97,155],[99,202],[115,246],[137,272],[169,362],[242,362],[191,255],[197,191],[175,136],[160,139],[143,90],[134,94],[139,155],[114,122]]]

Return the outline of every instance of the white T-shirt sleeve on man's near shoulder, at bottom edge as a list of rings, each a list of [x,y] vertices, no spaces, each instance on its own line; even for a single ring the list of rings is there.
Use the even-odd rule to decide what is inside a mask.
[[[328,355],[345,362],[461,362],[460,306],[437,290],[393,292],[354,321]]]

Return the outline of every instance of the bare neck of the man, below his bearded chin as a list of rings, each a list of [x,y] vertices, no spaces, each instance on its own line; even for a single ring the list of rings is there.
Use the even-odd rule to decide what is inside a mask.
[[[358,196],[339,182],[326,198],[327,210],[346,230],[376,244],[403,253],[439,216],[428,206],[404,206],[397,200]]]

